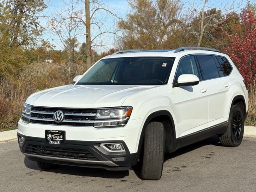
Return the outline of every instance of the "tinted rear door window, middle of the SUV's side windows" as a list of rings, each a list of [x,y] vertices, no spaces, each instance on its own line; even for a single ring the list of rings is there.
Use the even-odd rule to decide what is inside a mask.
[[[211,55],[197,55],[196,56],[201,66],[204,79],[212,79],[219,77],[218,69],[214,58]]]

